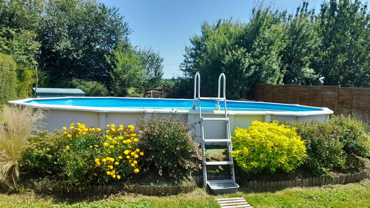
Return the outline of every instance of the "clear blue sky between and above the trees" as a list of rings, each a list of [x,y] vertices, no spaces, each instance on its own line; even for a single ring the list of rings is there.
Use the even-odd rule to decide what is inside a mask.
[[[248,22],[253,7],[252,0],[102,0],[119,8],[124,20],[133,30],[131,43],[152,47],[164,58],[164,78],[182,75],[179,63],[184,60],[189,38],[200,34],[203,21],[213,23],[218,19],[239,19]],[[270,1],[265,1],[269,3]],[[276,0],[275,5],[295,13],[302,1]],[[309,1],[309,8],[319,12],[322,0]],[[167,65],[171,64],[171,65]]]

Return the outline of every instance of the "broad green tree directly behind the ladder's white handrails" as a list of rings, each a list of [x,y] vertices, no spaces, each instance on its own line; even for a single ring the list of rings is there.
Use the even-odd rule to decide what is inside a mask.
[[[220,73],[228,77],[226,94],[230,99],[245,97],[254,83],[281,83],[279,53],[285,47],[281,19],[285,11],[262,5],[253,9],[247,24],[219,20],[204,22],[201,36],[190,38],[185,47],[181,70],[186,78],[201,74],[202,94],[216,96]]]

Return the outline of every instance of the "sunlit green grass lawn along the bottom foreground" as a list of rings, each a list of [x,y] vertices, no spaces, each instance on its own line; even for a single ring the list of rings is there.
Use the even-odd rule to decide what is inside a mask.
[[[285,188],[236,194],[208,195],[203,189],[188,194],[149,197],[141,194],[39,195],[22,190],[0,194],[0,207],[219,207],[215,198],[245,197],[253,207],[370,207],[370,180],[346,185]]]

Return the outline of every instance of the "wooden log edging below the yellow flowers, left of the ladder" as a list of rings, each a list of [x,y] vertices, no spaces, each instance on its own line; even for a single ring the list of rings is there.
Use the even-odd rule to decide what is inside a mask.
[[[21,188],[32,189],[41,194],[76,194],[76,193],[100,193],[108,194],[113,192],[129,192],[144,195],[175,195],[189,193],[195,190],[196,184],[186,186],[149,186],[149,185],[70,185],[70,184],[19,184]]]

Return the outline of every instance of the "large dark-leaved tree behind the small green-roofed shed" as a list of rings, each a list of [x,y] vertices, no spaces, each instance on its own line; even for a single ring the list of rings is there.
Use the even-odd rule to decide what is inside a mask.
[[[108,55],[131,30],[115,7],[97,0],[47,1],[41,18],[38,60],[47,70],[50,85],[60,79],[84,78],[108,83]]]

